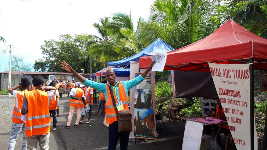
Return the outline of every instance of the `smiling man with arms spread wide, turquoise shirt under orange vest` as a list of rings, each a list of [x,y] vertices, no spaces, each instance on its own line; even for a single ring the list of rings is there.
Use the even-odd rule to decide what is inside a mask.
[[[120,149],[126,150],[128,148],[130,132],[118,132],[118,118],[116,110],[113,106],[112,97],[114,97],[116,106],[119,104],[119,113],[130,113],[128,108],[128,91],[135,85],[139,84],[147,76],[150,69],[153,67],[155,62],[151,61],[150,66],[137,78],[129,81],[116,82],[116,74],[113,70],[108,69],[105,73],[105,78],[109,84],[102,84],[94,82],[84,78],[82,75],[77,73],[73,68],[68,65],[65,61],[61,62],[61,68],[67,72],[71,72],[78,80],[84,83],[85,86],[97,89],[103,92],[106,98],[106,120],[109,124],[109,150],[115,150],[118,140],[120,139]],[[113,93],[112,93],[113,92]],[[113,96],[111,95],[113,94]],[[116,107],[118,109],[118,107]]]

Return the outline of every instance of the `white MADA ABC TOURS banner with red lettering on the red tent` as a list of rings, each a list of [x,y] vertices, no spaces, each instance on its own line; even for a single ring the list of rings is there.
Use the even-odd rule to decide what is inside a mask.
[[[249,64],[208,63],[229,129],[238,150],[251,149]],[[254,149],[258,138],[254,119]]]

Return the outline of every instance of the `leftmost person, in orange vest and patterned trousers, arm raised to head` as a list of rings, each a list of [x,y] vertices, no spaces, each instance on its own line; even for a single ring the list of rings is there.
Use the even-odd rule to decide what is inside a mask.
[[[16,89],[21,89],[22,91],[17,91]],[[8,89],[8,92],[15,96],[15,106],[12,111],[12,126],[9,133],[9,141],[8,141],[8,150],[13,150],[16,145],[16,141],[20,130],[23,132],[23,141],[22,148],[23,150],[27,149],[26,135],[25,135],[25,122],[20,119],[21,115],[21,107],[23,103],[23,96],[25,92],[30,91],[30,81],[28,78],[21,78],[21,85],[14,86]]]

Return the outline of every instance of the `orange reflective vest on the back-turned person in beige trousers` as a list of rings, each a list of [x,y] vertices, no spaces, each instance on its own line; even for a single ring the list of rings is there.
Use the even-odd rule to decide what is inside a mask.
[[[48,93],[40,90],[25,92],[28,101],[28,113],[25,134],[47,134],[50,131],[50,113],[48,111]]]

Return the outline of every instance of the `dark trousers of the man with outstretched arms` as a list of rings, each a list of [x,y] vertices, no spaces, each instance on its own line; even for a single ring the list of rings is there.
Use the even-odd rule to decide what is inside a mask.
[[[120,149],[127,150],[130,132],[118,133],[118,121],[109,125],[109,150],[115,150],[118,140],[120,141]]]

